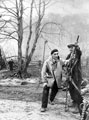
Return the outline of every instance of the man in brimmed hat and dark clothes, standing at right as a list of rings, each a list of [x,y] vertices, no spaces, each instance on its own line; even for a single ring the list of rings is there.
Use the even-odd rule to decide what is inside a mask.
[[[70,54],[67,56],[67,59],[71,59],[68,65],[68,71],[70,72],[71,80],[73,83],[69,81],[69,93],[71,99],[73,100],[73,105],[75,106],[74,113],[80,112],[80,104],[83,102],[83,98],[81,96],[81,81],[82,81],[82,72],[81,72],[81,55],[82,52],[78,45],[70,44],[68,45],[70,50]]]

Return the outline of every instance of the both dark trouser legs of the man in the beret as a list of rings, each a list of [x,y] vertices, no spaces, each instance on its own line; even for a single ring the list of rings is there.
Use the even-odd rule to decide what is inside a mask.
[[[50,88],[47,85],[43,88],[42,93],[42,108],[47,108],[48,105],[48,97],[49,97],[49,90],[51,89],[50,93],[50,101],[52,102],[58,92],[58,86],[56,81],[54,81],[53,86]]]

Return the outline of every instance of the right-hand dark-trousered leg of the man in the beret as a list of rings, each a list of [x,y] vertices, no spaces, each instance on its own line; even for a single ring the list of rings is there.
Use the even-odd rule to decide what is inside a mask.
[[[56,81],[54,81],[54,84],[53,84],[53,86],[51,88],[51,94],[50,94],[50,101],[51,102],[54,100],[57,92],[58,92],[58,86],[57,86]]]

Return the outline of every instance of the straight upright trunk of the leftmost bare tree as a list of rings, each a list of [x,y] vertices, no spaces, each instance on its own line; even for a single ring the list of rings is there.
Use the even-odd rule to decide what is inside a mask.
[[[20,0],[20,8],[17,5],[18,18],[18,71],[22,71],[22,41],[23,41],[23,0]]]

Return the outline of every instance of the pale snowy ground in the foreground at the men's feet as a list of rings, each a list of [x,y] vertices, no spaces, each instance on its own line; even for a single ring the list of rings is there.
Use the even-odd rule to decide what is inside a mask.
[[[65,112],[64,106],[49,105],[48,111],[40,112],[40,102],[0,100],[0,120],[78,120],[79,114]]]

